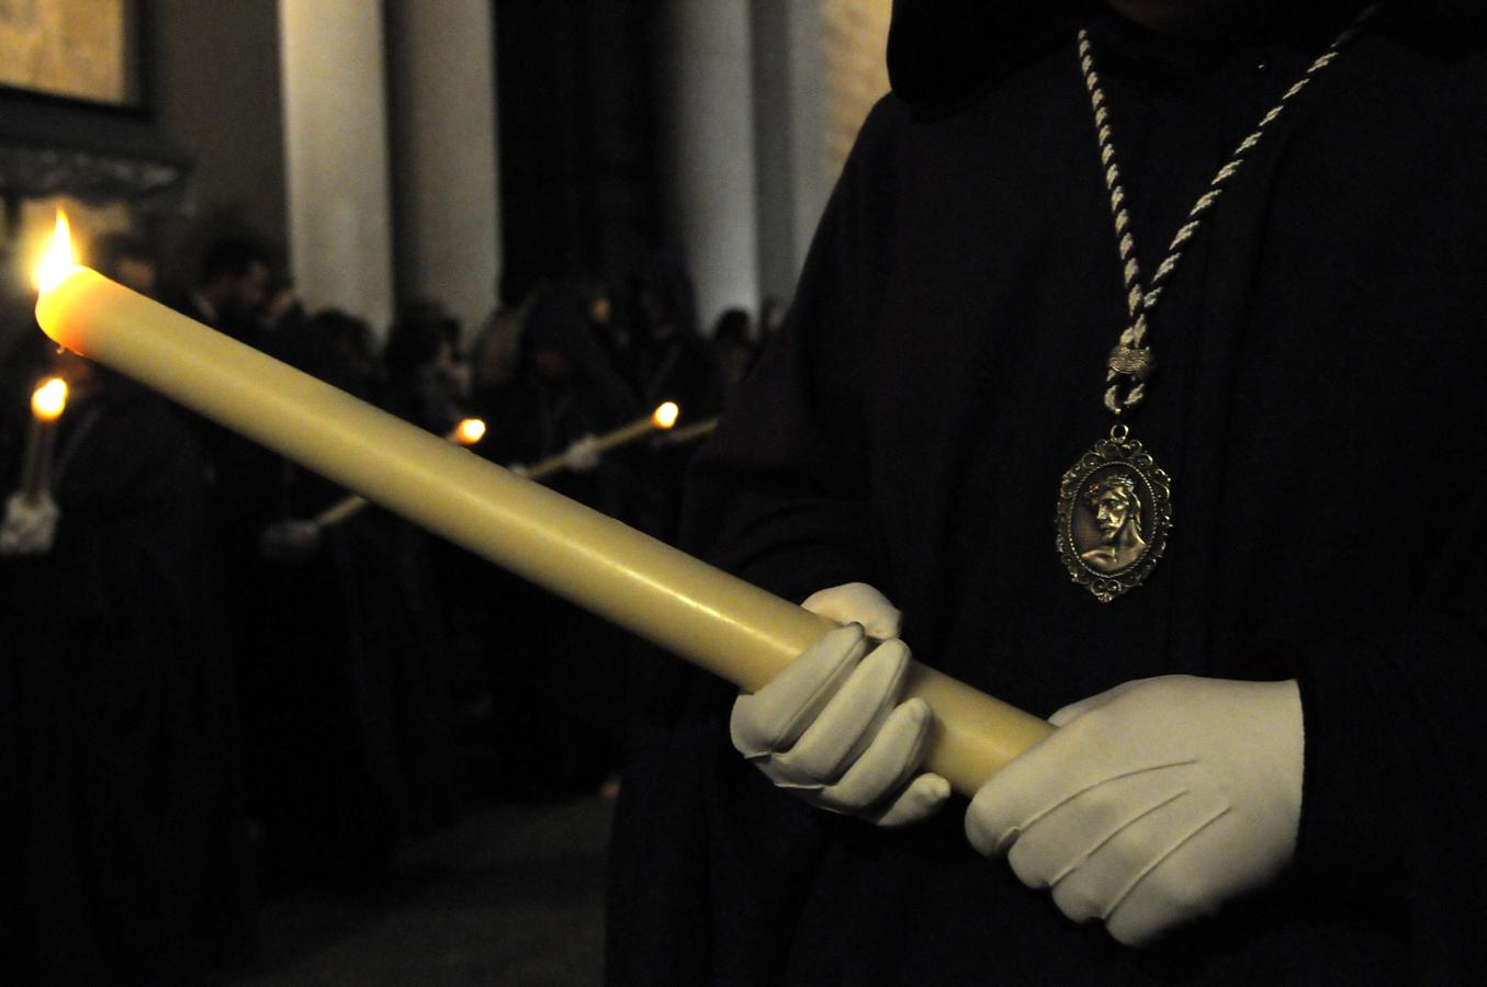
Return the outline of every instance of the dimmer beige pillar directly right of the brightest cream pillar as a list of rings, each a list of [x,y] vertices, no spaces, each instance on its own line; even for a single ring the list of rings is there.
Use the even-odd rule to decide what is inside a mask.
[[[387,15],[397,293],[470,334],[500,271],[492,4],[387,0]]]

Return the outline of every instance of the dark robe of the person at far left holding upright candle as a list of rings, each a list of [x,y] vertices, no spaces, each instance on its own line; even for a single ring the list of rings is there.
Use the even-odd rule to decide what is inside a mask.
[[[201,450],[161,398],[64,360],[55,543],[0,559],[6,975],[193,983],[244,948],[251,898]]]

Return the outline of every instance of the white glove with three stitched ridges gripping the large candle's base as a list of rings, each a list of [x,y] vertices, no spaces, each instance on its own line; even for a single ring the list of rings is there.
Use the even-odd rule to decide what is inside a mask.
[[[965,834],[1075,922],[1144,945],[1271,881],[1295,853],[1294,681],[1164,676],[1066,706],[975,794]]]

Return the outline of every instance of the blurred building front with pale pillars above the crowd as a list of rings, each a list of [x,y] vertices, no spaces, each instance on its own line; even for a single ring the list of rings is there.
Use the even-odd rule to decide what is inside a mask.
[[[886,91],[889,0],[48,0],[0,9],[4,244],[283,244],[306,305],[467,331],[675,251],[699,324],[788,299]],[[49,40],[51,39],[51,40]]]

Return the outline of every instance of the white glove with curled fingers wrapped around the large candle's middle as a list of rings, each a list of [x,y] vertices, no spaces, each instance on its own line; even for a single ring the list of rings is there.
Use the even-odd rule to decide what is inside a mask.
[[[938,774],[916,776],[932,715],[898,703],[909,647],[900,612],[864,583],[822,590],[803,606],[836,621],[775,681],[733,703],[733,746],[775,785],[807,803],[901,826],[950,795]],[[876,639],[876,641],[874,641]]]

